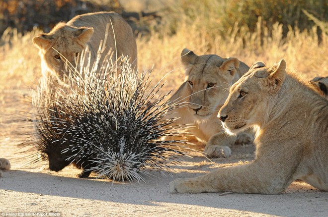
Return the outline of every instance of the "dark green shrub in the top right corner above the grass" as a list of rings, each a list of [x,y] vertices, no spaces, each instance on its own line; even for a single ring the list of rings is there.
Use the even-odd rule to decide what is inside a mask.
[[[322,21],[328,20],[328,2],[326,0],[229,0],[225,4],[223,26],[246,25],[250,31],[256,28],[258,17],[263,24],[272,30],[276,22],[283,24],[283,35],[286,36],[289,26],[300,31],[309,30],[315,24],[302,11],[306,10]],[[326,13],[325,13],[326,11]]]

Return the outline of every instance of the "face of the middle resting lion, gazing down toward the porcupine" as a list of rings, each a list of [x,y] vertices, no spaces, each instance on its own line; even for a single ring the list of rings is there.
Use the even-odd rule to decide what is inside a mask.
[[[188,49],[182,51],[181,59],[186,68],[189,111],[200,117],[211,115],[228,97],[239,60],[217,55],[198,56]]]

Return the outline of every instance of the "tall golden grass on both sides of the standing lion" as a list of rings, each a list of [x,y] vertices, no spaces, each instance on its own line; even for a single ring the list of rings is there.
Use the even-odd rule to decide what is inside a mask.
[[[154,66],[155,81],[167,74],[167,90],[176,90],[183,82],[184,70],[180,63],[183,48],[199,55],[237,57],[248,65],[258,60],[270,65],[284,58],[288,69],[296,70],[306,79],[328,76],[328,37],[324,33],[322,42],[318,45],[316,27],[303,32],[290,28],[283,38],[281,24],[273,24],[272,33],[269,34],[268,28],[262,25],[259,18],[254,32],[250,32],[246,26],[234,25],[225,29],[222,36],[216,34],[215,24],[218,21],[212,20],[210,16],[203,17],[204,14],[199,13],[199,17],[192,23],[187,18],[175,20],[174,34],[169,31],[171,23],[164,22],[160,27],[153,28],[149,36],[137,37],[139,68],[142,70]],[[38,29],[24,36],[15,29],[8,29],[2,35],[0,90],[37,84],[41,76],[40,58],[38,50],[32,44],[32,38],[38,34]]]

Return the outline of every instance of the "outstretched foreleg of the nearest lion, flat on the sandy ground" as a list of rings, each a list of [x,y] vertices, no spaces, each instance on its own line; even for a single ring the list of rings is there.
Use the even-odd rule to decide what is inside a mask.
[[[220,168],[196,178],[169,183],[171,193],[236,192],[279,194],[293,181],[289,171],[269,163]]]

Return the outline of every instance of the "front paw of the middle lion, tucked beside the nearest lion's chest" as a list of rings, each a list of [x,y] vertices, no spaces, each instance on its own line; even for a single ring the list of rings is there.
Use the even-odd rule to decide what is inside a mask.
[[[236,136],[229,136],[224,132],[215,134],[207,142],[204,152],[208,158],[228,158],[231,156],[229,146],[235,144]]]

